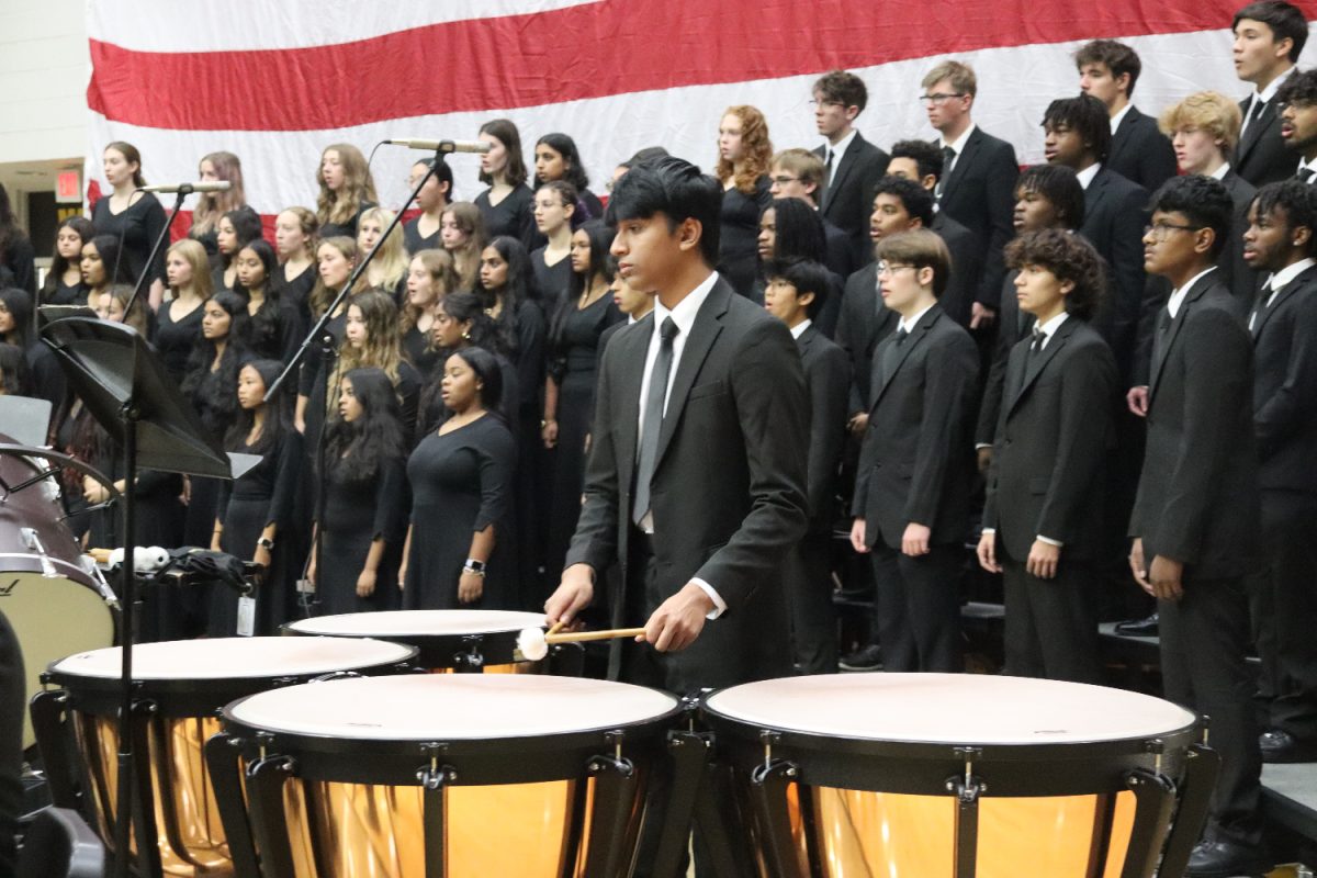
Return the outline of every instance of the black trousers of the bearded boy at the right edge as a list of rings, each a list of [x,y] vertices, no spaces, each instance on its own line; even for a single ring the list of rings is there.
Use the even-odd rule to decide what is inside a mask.
[[[1249,596],[1268,727],[1317,744],[1317,496],[1263,491],[1262,534]]]

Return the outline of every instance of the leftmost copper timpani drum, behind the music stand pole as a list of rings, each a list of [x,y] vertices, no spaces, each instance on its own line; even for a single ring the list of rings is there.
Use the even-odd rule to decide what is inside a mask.
[[[225,637],[133,648],[133,733],[142,812],[134,850],[149,875],[233,874],[203,754],[229,702],[325,675],[410,670],[416,650],[378,640]],[[108,844],[115,839],[119,648],[70,656],[43,681],[32,715],[54,803],[79,807]],[[134,815],[140,817],[141,815]],[[145,840],[145,844],[142,841]]]

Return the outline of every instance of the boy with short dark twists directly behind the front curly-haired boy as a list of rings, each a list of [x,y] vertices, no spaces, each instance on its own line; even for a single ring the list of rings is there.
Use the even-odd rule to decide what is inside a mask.
[[[1017,236],[1043,229],[1075,232],[1083,220],[1084,188],[1075,179],[1075,171],[1063,165],[1035,165],[1019,175],[1019,182],[1015,183],[1013,215]],[[1019,308],[1015,292],[1017,275],[1018,270],[1008,271],[1001,286],[997,341],[993,346],[992,365],[988,367],[988,380],[984,382],[984,395],[979,403],[975,452],[979,455],[980,473],[988,471],[993,458],[993,441],[997,437],[997,420],[1006,384],[1006,361],[1015,342],[1034,328],[1034,315]]]

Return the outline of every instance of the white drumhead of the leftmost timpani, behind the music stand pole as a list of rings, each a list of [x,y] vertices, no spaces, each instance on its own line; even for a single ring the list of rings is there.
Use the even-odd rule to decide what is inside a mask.
[[[133,679],[248,679],[313,677],[407,661],[410,646],[341,637],[216,637],[133,646]],[[115,679],[122,671],[119,646],[78,653],[50,665],[53,674]]]

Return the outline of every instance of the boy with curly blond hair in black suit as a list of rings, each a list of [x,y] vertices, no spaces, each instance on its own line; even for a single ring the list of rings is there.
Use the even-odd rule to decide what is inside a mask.
[[[1217,267],[1222,283],[1239,301],[1241,313],[1246,313],[1258,290],[1258,272],[1243,259],[1243,232],[1249,228],[1249,204],[1258,190],[1230,167],[1230,155],[1239,141],[1239,108],[1225,95],[1204,91],[1168,107],[1159,125],[1171,137],[1181,171],[1218,179],[1230,192],[1234,203],[1230,240]]]

